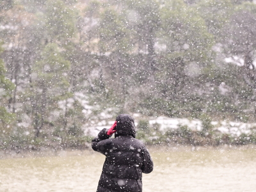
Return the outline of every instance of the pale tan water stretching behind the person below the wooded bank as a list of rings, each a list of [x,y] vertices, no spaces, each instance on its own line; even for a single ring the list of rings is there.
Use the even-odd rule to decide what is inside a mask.
[[[256,191],[256,146],[150,148],[154,171],[144,192]],[[104,156],[88,151],[2,155],[1,192],[93,192]]]

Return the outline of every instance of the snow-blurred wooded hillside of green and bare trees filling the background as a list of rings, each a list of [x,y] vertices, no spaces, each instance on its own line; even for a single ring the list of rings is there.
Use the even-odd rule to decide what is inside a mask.
[[[147,143],[255,142],[254,134],[234,138],[211,125],[255,119],[255,3],[20,0],[0,9],[4,141],[12,143],[7,132],[31,122],[20,128],[28,138],[13,132],[20,141],[10,146],[82,146],[81,127],[91,118],[138,112],[203,123],[202,132],[181,126],[162,135],[140,122],[138,137]],[[229,56],[244,65],[225,63]]]

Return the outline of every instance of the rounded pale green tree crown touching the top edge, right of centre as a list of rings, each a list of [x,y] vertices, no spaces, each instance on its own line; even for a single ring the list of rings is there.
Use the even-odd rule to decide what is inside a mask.
[[[161,10],[163,42],[168,42],[168,53],[179,52],[186,61],[207,61],[213,43],[205,21],[196,10],[183,1],[170,1]],[[179,57],[180,57],[179,56]]]

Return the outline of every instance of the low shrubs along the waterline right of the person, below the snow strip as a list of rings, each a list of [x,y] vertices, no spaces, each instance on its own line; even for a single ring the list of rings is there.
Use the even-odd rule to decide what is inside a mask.
[[[207,122],[206,122],[207,124]],[[207,125],[209,126],[209,125]],[[232,134],[220,134],[212,130],[212,126],[205,131],[192,131],[188,126],[179,125],[177,129],[169,129],[164,134],[154,131],[153,127],[149,127],[150,132],[138,130],[138,137],[147,145],[191,145],[191,146],[218,146],[218,145],[248,145],[255,144],[255,132],[251,134],[242,133],[239,136]]]

